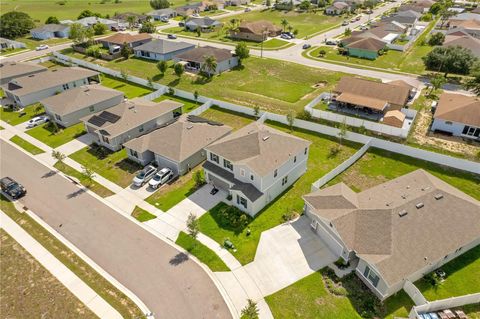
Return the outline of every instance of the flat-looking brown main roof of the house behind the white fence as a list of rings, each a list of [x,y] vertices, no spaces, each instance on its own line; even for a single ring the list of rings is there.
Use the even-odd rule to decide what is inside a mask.
[[[405,105],[410,90],[388,83],[374,82],[345,76],[340,79],[333,90],[337,93],[351,93],[376,100],[384,100],[390,104]]]

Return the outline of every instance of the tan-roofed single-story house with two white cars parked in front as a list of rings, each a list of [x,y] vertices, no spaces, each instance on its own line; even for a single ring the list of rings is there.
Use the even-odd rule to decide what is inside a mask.
[[[168,167],[175,175],[183,175],[206,159],[204,147],[231,131],[231,127],[221,123],[184,114],[124,146],[135,162],[147,165],[155,161],[158,167]]]

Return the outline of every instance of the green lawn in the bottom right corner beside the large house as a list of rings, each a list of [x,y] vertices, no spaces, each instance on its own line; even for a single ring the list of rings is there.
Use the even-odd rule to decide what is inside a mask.
[[[424,279],[415,282],[427,300],[434,301],[478,293],[480,291],[480,246],[467,251],[440,269],[447,274],[445,281],[440,285],[434,287]]]

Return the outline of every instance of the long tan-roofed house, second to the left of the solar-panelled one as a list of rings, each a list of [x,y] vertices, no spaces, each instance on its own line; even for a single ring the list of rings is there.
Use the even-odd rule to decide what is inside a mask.
[[[100,83],[99,73],[68,67],[15,78],[5,86],[5,95],[16,105],[27,106],[82,85]]]

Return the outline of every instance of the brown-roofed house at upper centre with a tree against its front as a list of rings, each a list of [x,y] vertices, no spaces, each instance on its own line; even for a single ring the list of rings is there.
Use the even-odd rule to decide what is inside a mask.
[[[177,63],[184,63],[185,69],[189,72],[202,71],[207,57],[214,57],[217,61],[215,70],[206,70],[212,74],[218,74],[238,65],[238,57],[227,49],[219,49],[211,46],[199,47],[187,52],[175,55],[173,60]]]

